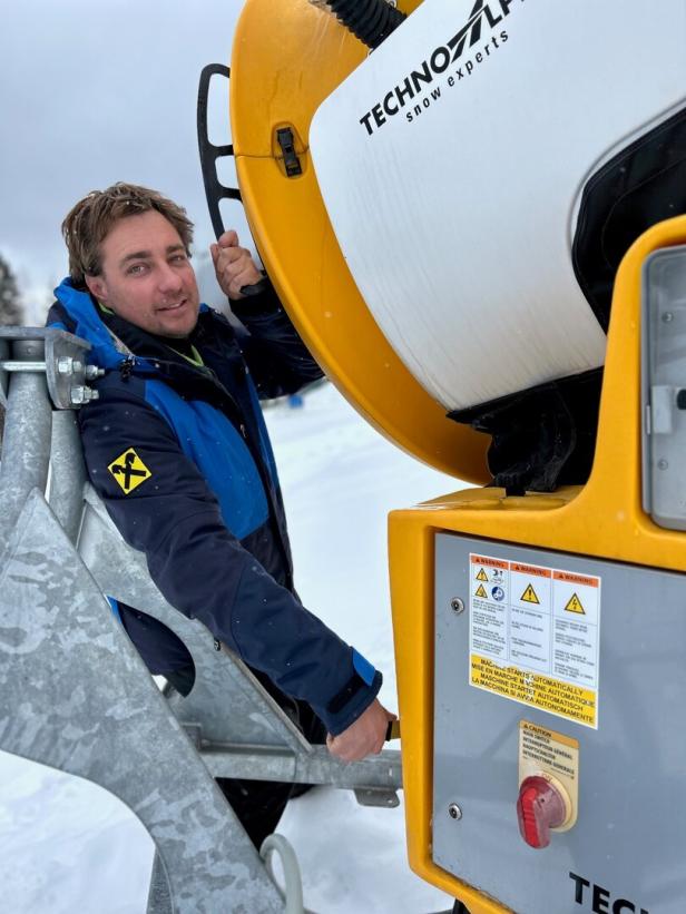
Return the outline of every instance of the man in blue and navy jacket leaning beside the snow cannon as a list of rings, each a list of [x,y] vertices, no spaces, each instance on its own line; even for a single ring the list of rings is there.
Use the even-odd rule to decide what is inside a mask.
[[[227,232],[212,256],[246,331],[200,305],[185,210],[135,185],[89,194],[62,234],[70,277],[48,323],[88,340],[91,361],[106,371],[79,425],[90,480],[112,520],[145,552],[167,601],[233,648],[311,739],[321,720],[339,758],[379,753],[393,718],[375,697],[381,675],[293,588],[258,397],[294,393],[321,371],[273,289],[242,295],[262,276]],[[150,671],[189,691],[192,660],[178,638],[135,608],[118,611]],[[259,846],[291,786],[220,786]]]

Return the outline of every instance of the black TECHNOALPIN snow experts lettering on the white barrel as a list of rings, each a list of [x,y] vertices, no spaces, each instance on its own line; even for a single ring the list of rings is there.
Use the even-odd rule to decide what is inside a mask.
[[[427,86],[433,82],[437,77],[443,76],[452,63],[460,61],[460,66],[448,76],[445,81],[448,87],[452,88],[455,82],[470,77],[474,71],[474,67],[491,57],[501,45],[504,45],[509,36],[504,29],[501,29],[498,35],[491,35],[490,41],[480,51],[477,51],[468,59],[463,59],[468,38],[469,47],[473,48],[481,40],[483,26],[492,32],[510,14],[512,3],[523,2],[525,0],[489,0],[489,2],[477,0],[467,23],[444,45],[434,48],[431,55],[422,60],[418,69],[412,70],[398,86],[393,86],[381,101],[372,105],[370,110],[360,118],[360,124],[366,132],[371,136],[388,122],[388,118],[401,114],[408,102],[414,100],[414,105],[410,105],[408,110],[404,111],[405,119],[411,124],[425,108],[431,107],[433,101],[441,98],[441,86],[439,85],[430,90],[430,96],[427,95],[421,98],[421,101],[419,100],[422,92],[427,91]]]

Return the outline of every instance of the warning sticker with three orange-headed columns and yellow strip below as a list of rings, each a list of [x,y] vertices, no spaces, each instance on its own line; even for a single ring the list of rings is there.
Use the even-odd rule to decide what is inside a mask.
[[[597,729],[600,578],[473,553],[470,570],[470,685]]]

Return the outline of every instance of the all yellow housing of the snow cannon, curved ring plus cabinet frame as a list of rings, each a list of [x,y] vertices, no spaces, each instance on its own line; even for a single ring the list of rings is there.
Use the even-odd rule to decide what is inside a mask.
[[[413,0],[400,3],[406,11],[414,6]],[[317,189],[308,156],[312,116],[366,53],[307,0],[247,0],[231,61],[233,142],[246,214],[283,303],[344,395],[409,453],[460,479],[486,483],[488,439],[448,420],[391,350],[345,266]],[[303,166],[296,178],[286,177],[274,140],[283,126],[296,137]],[[624,258],[586,485],[511,498],[498,489],[468,489],[390,517],[410,864],[471,914],[506,908],[432,859],[435,535],[461,533],[639,568],[686,569],[686,537],[658,528],[641,508],[639,411],[641,268],[651,252],[680,244],[686,244],[686,217],[655,226]]]

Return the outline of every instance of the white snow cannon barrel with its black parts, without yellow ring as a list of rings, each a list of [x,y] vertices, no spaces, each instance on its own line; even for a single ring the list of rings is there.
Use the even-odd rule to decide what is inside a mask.
[[[616,269],[686,210],[684,3],[661,12],[670,35],[639,0],[431,0],[312,121],[364,301],[514,492],[587,479]]]

